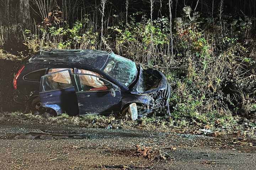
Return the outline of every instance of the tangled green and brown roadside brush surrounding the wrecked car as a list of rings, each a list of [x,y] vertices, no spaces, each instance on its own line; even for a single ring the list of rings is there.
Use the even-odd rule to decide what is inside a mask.
[[[152,1],[150,12],[128,12],[127,1],[126,12],[115,13],[109,11],[107,0],[101,0],[96,6],[97,12],[85,10],[80,17],[71,18],[65,18],[64,7],[56,5],[57,1],[49,1],[52,6],[47,9],[36,3],[39,0],[34,2],[33,8],[46,10],[37,13],[41,22],[0,26],[2,49],[12,52],[5,45],[14,35],[12,39],[21,42],[26,51],[14,57],[0,50],[1,59],[16,62],[42,48],[113,51],[141,63],[144,68],[153,67],[165,74],[172,87],[171,114],[135,122],[113,116],[66,118],[62,115],[44,119],[22,113],[3,113],[0,119],[20,123],[29,119],[49,124],[58,124],[61,120],[61,123],[79,125],[97,120],[102,126],[116,121],[117,126],[188,129],[195,126],[216,131],[243,128],[255,134],[255,17],[226,15],[223,0],[213,4],[213,8],[207,7],[208,11],[214,10],[214,14],[203,11],[200,4],[202,11],[198,7],[191,13],[192,19],[186,15],[175,17],[178,1],[166,2],[165,9],[169,11],[170,7],[170,13],[153,17],[156,7]]]

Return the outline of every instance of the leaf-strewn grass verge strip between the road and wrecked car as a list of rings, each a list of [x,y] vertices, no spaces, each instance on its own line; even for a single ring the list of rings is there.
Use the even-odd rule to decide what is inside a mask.
[[[141,129],[158,131],[178,131],[182,133],[202,134],[199,129],[210,129],[218,134],[233,134],[242,130],[244,134],[256,136],[256,121],[247,120],[241,117],[217,119],[212,124],[204,124],[191,119],[173,119],[172,117],[163,118],[142,118],[136,121],[122,119],[110,115],[75,116],[69,117],[62,114],[58,117],[42,117],[41,115],[25,114],[21,112],[0,113],[0,123],[2,124],[42,124],[42,125],[76,125],[87,128],[106,128],[112,125],[113,129]]]

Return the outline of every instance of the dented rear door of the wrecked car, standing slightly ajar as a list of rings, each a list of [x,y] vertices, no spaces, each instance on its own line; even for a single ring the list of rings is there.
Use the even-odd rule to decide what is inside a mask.
[[[45,108],[54,109],[57,114],[78,114],[75,86],[71,80],[73,69],[43,75],[40,81],[40,101]]]

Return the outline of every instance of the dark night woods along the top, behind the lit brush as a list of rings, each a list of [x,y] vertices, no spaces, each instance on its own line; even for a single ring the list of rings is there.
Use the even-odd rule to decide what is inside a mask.
[[[42,16],[38,15],[38,6],[33,0],[1,0],[0,2],[0,23],[2,25],[19,23],[21,15],[21,6],[29,1],[30,15],[37,23],[40,23]],[[100,13],[101,0],[46,0],[54,2],[54,6],[59,6],[63,12],[65,21],[73,24],[76,20],[80,20],[84,14]],[[172,0],[172,13],[174,17],[181,17],[183,14],[182,8],[187,5],[192,9],[197,5],[198,0]],[[219,15],[219,5],[221,0],[199,0],[197,11],[203,15]],[[153,0],[153,18],[169,15],[169,0]],[[50,11],[49,11],[50,12]],[[129,0],[128,14],[135,12],[143,12],[148,17],[150,16],[150,0]],[[226,15],[233,16],[256,16],[256,1],[255,0],[224,0],[223,12]],[[113,14],[126,13],[126,0],[108,0],[106,2],[106,17]],[[47,13],[48,15],[48,13]],[[27,17],[27,16],[25,16]],[[46,17],[46,16],[44,16]],[[29,22],[29,21],[26,21]]]

